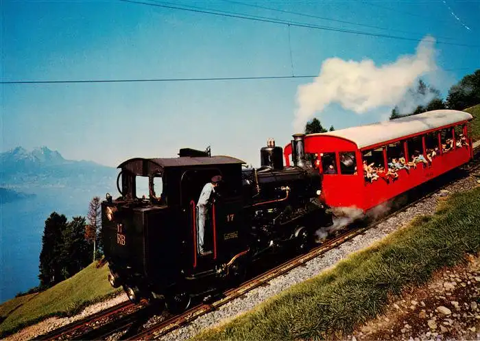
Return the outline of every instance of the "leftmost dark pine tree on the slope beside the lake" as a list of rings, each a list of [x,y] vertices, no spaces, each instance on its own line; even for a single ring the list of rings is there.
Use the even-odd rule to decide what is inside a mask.
[[[62,269],[65,267],[62,252],[65,228],[67,228],[65,215],[53,212],[45,220],[38,274],[40,287],[49,287],[62,280]]]

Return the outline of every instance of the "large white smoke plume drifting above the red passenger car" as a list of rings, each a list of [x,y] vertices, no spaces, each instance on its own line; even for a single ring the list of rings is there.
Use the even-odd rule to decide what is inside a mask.
[[[358,114],[395,106],[421,75],[437,69],[434,45],[435,38],[426,36],[418,44],[416,54],[379,66],[373,60],[328,58],[313,83],[298,86],[293,128],[302,132],[315,112],[334,102]]]

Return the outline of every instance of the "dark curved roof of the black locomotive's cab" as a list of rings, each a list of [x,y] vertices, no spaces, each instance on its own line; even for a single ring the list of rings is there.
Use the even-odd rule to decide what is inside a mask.
[[[130,158],[117,168],[128,170],[136,175],[148,176],[149,174],[163,173],[165,168],[194,167],[207,165],[235,165],[243,164],[238,158],[231,156],[182,156],[178,158]]]

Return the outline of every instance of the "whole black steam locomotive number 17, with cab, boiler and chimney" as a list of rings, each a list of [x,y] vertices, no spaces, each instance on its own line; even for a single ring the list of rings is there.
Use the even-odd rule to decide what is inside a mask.
[[[165,298],[171,310],[241,277],[265,252],[307,248],[331,224],[319,202],[322,178],[305,160],[303,134],[293,135],[293,166],[273,140],[261,148],[261,167],[210,152],[180,150],[178,158],[132,158],[119,165],[121,196],[102,202],[104,252],[113,287],[131,301]],[[214,176],[222,181],[208,209],[204,252],[197,242],[197,200]],[[148,195],[137,193],[147,183]],[[139,191],[138,191],[139,192]]]

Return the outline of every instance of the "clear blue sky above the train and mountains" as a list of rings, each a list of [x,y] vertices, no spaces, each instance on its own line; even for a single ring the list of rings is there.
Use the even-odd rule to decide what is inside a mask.
[[[480,45],[478,1],[241,1],[386,30],[230,1],[174,5]],[[369,59],[378,67],[394,63],[400,56],[415,54],[418,40],[288,27],[113,0],[2,0],[0,78],[3,82],[228,78],[289,76],[292,71],[318,75],[327,58]],[[480,67],[479,47],[436,43],[435,50],[440,69],[426,77],[444,95]],[[173,157],[179,148],[211,145],[213,154],[258,165],[267,137],[280,145],[289,141],[298,86],[312,81],[0,84],[0,151],[47,145],[65,158],[116,166],[126,158]],[[359,115],[333,102],[315,117],[338,129],[379,121],[385,113],[389,108]]]

